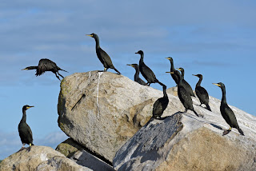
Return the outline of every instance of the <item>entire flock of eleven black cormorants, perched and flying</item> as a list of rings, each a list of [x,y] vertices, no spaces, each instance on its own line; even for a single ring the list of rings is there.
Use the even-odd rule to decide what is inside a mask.
[[[118,74],[121,74],[113,65],[110,56],[106,54],[104,50],[99,45],[99,38],[97,34],[86,34],[87,36],[90,36],[91,38],[94,38],[96,42],[96,54],[98,56],[98,59],[100,62],[102,62],[102,65],[104,66],[104,70],[101,70],[100,72],[106,72],[106,70],[113,69],[115,70]],[[141,85],[148,85],[150,86],[151,83],[158,83],[159,85],[162,85],[162,91],[163,91],[163,97],[158,98],[157,101],[154,102],[153,105],[153,111],[152,111],[152,118],[161,118],[162,113],[166,109],[168,103],[169,103],[169,98],[166,93],[166,85],[164,85],[162,82],[159,82],[158,79],[156,78],[154,72],[150,70],[148,66],[144,63],[144,53],[142,50],[138,50],[135,54],[140,54],[141,58],[139,60],[139,65],[138,64],[127,64],[127,66],[132,66],[135,69],[135,74],[134,74],[134,81],[138,82]],[[173,58],[166,58],[170,61],[170,71],[166,73],[170,73],[171,77],[174,79],[174,82],[178,86],[178,98],[182,102],[182,105],[185,107],[185,113],[188,109],[192,110],[198,117],[198,113],[194,110],[193,107],[193,101],[192,97],[194,96],[193,89],[189,85],[188,82],[184,79],[184,69],[183,68],[178,68],[175,70],[174,68],[174,60]],[[36,70],[36,76],[44,74],[46,71],[51,71],[55,74],[55,76],[60,80],[58,77],[63,76],[58,73],[59,70],[62,70],[59,68],[55,62],[50,61],[49,59],[43,58],[39,61],[38,66],[28,66],[23,70]],[[180,72],[178,71],[181,71]],[[66,70],[62,70],[67,72]],[[142,76],[146,79],[146,82],[144,82],[141,78],[139,78],[139,73],[142,74]],[[197,85],[195,86],[195,93],[200,101],[200,106],[202,104],[206,105],[206,109],[210,110],[210,105],[209,105],[209,95],[206,91],[201,86],[202,82],[202,74],[196,74],[194,75],[199,78],[199,81]],[[60,80],[61,81],[61,80]],[[214,85],[218,85],[222,89],[222,102],[220,106],[220,111],[222,113],[222,117],[225,119],[226,123],[230,125],[230,129],[227,129],[223,132],[223,135],[226,135],[227,133],[230,133],[232,128],[238,129],[238,132],[244,135],[242,132],[242,129],[239,128],[238,121],[234,115],[234,112],[226,103],[226,89],[225,85],[222,82],[219,83],[213,83]],[[22,149],[24,149],[24,146],[26,144],[28,145],[34,145],[33,144],[33,136],[32,136],[32,131],[30,129],[30,126],[26,124],[26,110],[30,109],[30,105],[24,105],[22,107],[22,120],[18,124],[18,133],[22,141]],[[22,150],[20,149],[20,150]]]

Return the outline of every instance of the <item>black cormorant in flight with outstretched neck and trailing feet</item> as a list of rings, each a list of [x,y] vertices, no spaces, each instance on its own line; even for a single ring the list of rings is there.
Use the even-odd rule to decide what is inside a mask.
[[[61,68],[59,68],[55,62],[50,61],[50,59],[40,59],[38,66],[28,66],[25,69],[22,70],[37,70],[36,72],[36,76],[38,77],[38,75],[42,75],[44,74],[46,71],[51,71],[56,75],[56,78],[59,79],[58,75],[61,76],[62,78],[64,78],[61,74],[58,73],[59,70],[62,70]],[[62,70],[67,72],[66,70]],[[57,75],[58,74],[58,75]],[[61,81],[59,79],[59,81]]]

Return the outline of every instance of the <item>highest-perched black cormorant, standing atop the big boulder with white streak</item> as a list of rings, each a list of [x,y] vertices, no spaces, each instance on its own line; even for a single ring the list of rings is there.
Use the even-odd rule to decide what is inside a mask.
[[[104,66],[104,70],[102,70],[103,72],[105,72],[106,70],[110,69],[114,69],[118,74],[121,74],[116,68],[114,68],[113,63],[110,59],[110,56],[108,54],[106,54],[106,52],[104,50],[102,50],[102,48],[99,46],[99,39],[98,39],[98,35],[97,34],[86,34],[86,36],[90,36],[91,38],[94,38],[95,42],[96,42],[96,54],[98,56],[98,59],[102,62],[103,66]]]

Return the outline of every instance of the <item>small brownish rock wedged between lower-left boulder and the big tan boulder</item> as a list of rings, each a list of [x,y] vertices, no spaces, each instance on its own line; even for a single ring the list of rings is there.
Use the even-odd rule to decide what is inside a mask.
[[[82,149],[84,149],[82,145],[79,145],[76,141],[68,138],[66,141],[59,144],[55,150],[70,158],[74,156],[74,153],[82,151]]]

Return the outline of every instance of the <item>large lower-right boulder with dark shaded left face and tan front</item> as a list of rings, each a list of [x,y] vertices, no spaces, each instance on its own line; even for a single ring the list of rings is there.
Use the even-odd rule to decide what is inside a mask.
[[[204,118],[175,113],[149,121],[118,150],[114,169],[256,170],[256,117],[241,114],[247,115],[243,121],[237,115],[246,136],[234,129],[222,136],[224,119],[207,111]]]

